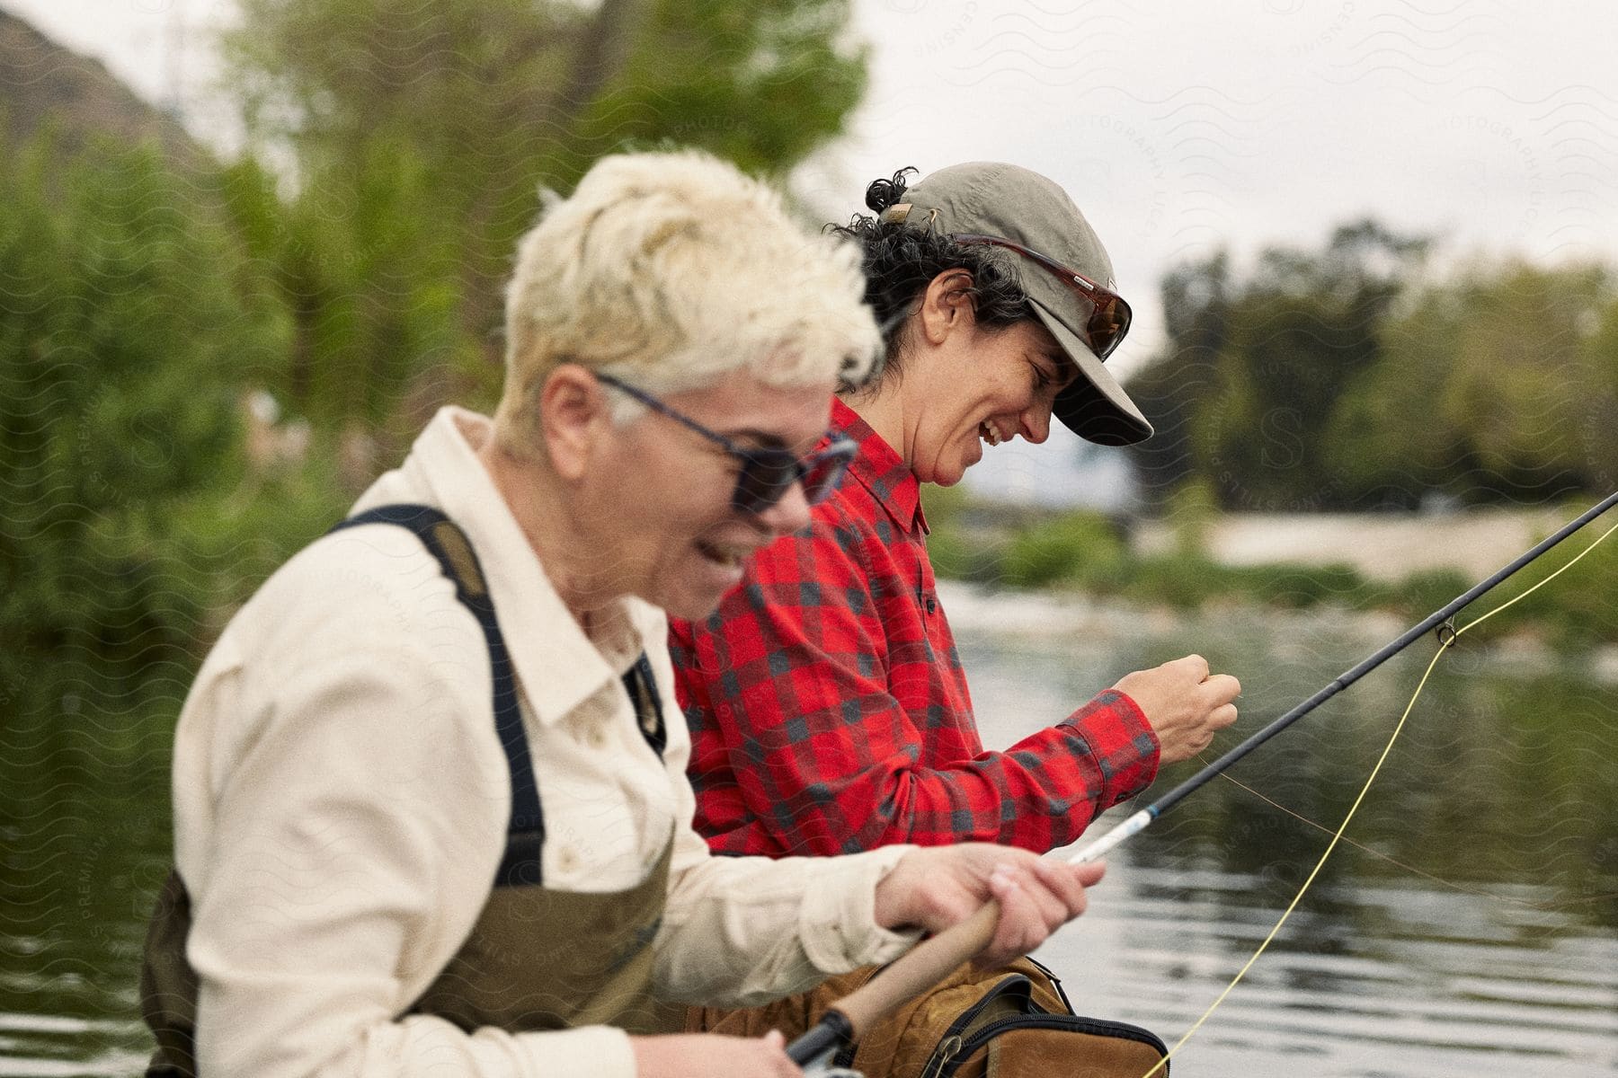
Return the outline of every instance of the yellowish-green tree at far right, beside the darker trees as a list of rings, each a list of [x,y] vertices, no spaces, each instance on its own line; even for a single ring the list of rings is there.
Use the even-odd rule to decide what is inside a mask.
[[[1395,504],[1602,486],[1618,364],[1597,330],[1613,309],[1595,267],[1484,265],[1425,289],[1387,322],[1380,362],[1325,432],[1338,480]]]

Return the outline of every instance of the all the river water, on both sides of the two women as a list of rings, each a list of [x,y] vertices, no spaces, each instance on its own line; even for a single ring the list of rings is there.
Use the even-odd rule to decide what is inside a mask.
[[[945,603],[990,747],[1191,650],[1243,679],[1228,747],[1400,630],[964,588]],[[1191,1028],[1298,892],[1430,653],[1413,646],[1239,764],[1241,785],[1210,784],[1108,858],[1091,912],[1039,955],[1081,1013],[1170,1044]],[[1610,666],[1524,642],[1446,655],[1346,844],[1173,1073],[1618,1075]],[[0,1076],[141,1067],[136,970],[183,692],[178,671],[141,692],[57,674],[0,698]]]

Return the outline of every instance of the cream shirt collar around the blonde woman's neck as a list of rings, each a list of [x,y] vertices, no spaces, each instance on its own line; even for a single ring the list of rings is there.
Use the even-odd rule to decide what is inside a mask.
[[[647,640],[663,640],[663,614],[626,596],[602,611],[592,635],[584,634],[477,459],[477,448],[492,436],[485,415],[438,409],[404,464],[379,478],[354,511],[426,503],[466,532],[489,580],[511,666],[536,716],[550,724],[626,674]]]

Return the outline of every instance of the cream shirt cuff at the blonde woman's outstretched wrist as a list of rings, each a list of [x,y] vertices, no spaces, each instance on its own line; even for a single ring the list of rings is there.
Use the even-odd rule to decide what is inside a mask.
[[[827,976],[898,958],[921,931],[893,933],[877,924],[877,884],[914,847],[885,845],[866,853],[806,858],[814,882],[799,910],[804,955]]]

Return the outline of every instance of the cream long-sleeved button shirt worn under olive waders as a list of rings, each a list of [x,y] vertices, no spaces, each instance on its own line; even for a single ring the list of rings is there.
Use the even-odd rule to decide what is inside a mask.
[[[437,506],[477,550],[521,690],[545,886],[631,887],[673,831],[655,947],[675,1000],[762,1002],[903,952],[913,937],[875,924],[872,895],[906,847],[709,855],[662,611],[625,600],[584,635],[476,457],[489,430],[443,409],[354,509]],[[662,760],[620,682],[642,648],[667,701]],[[421,541],[379,524],[288,561],[209,655],[175,739],[201,1073],[633,1075],[618,1030],[468,1036],[398,1018],[482,910],[508,811],[487,646]]]

